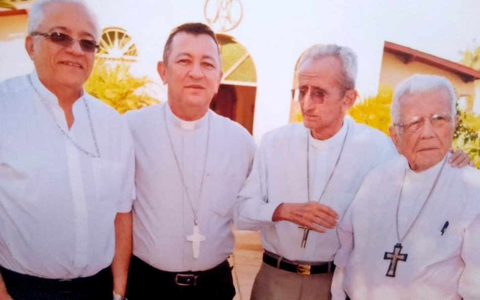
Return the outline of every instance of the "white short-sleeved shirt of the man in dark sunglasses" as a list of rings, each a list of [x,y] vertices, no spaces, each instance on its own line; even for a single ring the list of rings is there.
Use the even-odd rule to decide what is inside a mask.
[[[96,154],[84,99],[100,158]],[[70,130],[35,72],[0,83],[0,265],[70,279],[108,267],[114,219],[132,203],[134,156],[125,121],[83,93]],[[57,125],[58,124],[58,125]]]

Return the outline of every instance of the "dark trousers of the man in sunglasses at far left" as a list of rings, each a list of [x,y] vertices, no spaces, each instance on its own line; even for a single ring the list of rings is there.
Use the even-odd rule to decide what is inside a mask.
[[[83,278],[46,279],[0,267],[7,291],[15,300],[112,300],[110,268]]]

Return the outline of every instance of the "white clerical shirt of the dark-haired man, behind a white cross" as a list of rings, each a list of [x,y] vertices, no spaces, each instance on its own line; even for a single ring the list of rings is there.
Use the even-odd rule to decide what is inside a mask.
[[[185,122],[167,103],[125,116],[136,158],[133,255],[172,272],[207,270],[220,264],[233,249],[232,211],[251,168],[252,136],[212,111],[200,120]],[[186,240],[195,219],[189,199],[200,234],[206,236],[197,259]]]

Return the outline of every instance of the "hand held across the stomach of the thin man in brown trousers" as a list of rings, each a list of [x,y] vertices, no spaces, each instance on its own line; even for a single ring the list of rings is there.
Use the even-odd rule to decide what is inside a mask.
[[[290,221],[315,230],[325,232],[337,226],[339,215],[328,206],[317,202],[282,203],[273,212],[272,221]]]

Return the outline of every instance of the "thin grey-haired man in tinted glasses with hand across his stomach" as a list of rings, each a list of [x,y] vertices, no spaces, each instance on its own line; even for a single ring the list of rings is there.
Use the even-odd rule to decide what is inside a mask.
[[[356,73],[350,48],[308,48],[293,91],[303,124],[262,139],[234,210],[237,228],[260,230],[265,249],[252,299],[329,299],[337,224],[364,175],[396,156],[386,135],[345,118]]]

